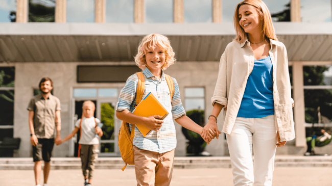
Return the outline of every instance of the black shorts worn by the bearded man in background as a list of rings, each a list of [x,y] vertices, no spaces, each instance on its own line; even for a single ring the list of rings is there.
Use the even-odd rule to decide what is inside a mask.
[[[50,162],[53,146],[54,146],[54,138],[52,139],[38,138],[38,144],[36,146],[32,146],[33,161],[37,162],[43,160],[44,162]]]

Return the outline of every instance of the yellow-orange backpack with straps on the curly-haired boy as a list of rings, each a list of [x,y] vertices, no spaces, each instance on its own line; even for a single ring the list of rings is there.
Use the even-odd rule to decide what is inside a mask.
[[[138,76],[138,83],[136,89],[136,104],[141,101],[144,90],[145,90],[145,79],[143,72],[135,73]],[[167,84],[170,89],[171,101],[174,94],[174,82],[171,76],[164,74]],[[130,132],[129,123],[122,121],[120,131],[118,132],[118,147],[120,148],[122,160],[126,163],[125,167],[122,168],[122,171],[125,170],[127,164],[134,165],[134,148],[133,148],[133,139],[135,133],[135,124],[132,124],[132,130]]]

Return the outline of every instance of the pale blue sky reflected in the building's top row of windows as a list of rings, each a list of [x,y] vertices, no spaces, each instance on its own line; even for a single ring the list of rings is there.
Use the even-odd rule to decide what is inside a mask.
[[[43,4],[49,0],[34,0]],[[105,0],[106,22],[133,22],[133,0]],[[0,0],[0,22],[9,22],[15,0]],[[67,22],[93,22],[94,0],[67,0]],[[211,22],[212,0],[184,0],[184,22]],[[223,22],[232,22],[235,6],[241,0],[223,0]],[[289,0],[264,0],[271,13],[284,9]],[[172,22],[173,0],[145,0],[146,22]],[[301,0],[303,22],[331,22],[330,0]]]

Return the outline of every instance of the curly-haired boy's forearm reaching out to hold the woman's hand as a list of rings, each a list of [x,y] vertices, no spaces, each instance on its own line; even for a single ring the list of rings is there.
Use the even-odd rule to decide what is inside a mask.
[[[192,119],[190,119],[188,116],[183,115],[177,119],[175,119],[175,121],[177,123],[179,123],[181,126],[183,126],[184,128],[187,128],[189,130],[192,130],[194,132],[197,132],[198,134],[200,134],[202,136],[202,132],[203,132],[203,127],[199,126],[197,123],[195,123]],[[204,139],[204,141],[206,141],[206,143],[210,143],[210,141],[213,139],[214,136],[212,136],[210,133],[209,135],[206,135],[204,138],[202,136],[202,138]]]

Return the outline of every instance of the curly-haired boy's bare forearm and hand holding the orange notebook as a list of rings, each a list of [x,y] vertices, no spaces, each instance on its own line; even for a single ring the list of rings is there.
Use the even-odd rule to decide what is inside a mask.
[[[132,124],[143,124],[151,130],[159,131],[162,126],[161,116],[142,117],[136,116],[128,110],[116,111],[116,117],[122,121]]]

